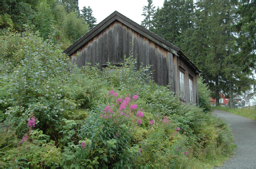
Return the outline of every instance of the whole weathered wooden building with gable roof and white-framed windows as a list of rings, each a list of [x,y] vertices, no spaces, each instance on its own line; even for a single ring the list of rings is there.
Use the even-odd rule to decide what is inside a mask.
[[[115,11],[64,53],[79,67],[87,62],[99,63],[100,67],[111,62],[120,65],[124,56],[129,56],[133,42],[133,53],[140,63],[153,65],[154,81],[159,85],[170,85],[183,104],[198,104],[198,75],[201,71],[180,48],[143,28]],[[78,53],[78,56],[76,55]]]

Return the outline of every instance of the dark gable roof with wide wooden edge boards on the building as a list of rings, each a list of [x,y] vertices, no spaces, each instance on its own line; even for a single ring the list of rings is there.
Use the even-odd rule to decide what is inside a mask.
[[[91,29],[87,34],[84,34],[80,39],[78,39],[76,42],[74,42],[70,47],[68,47],[63,52],[65,54],[71,55],[74,52],[76,52],[80,47],[82,47],[85,43],[87,43],[90,39],[95,37],[97,34],[99,34],[102,30],[104,30],[108,25],[113,23],[114,21],[118,20],[119,22],[125,24],[129,28],[133,29],[134,31],[137,31],[139,34],[143,35],[144,37],[150,39],[151,41],[155,42],[157,45],[160,45],[161,47],[165,48],[167,51],[172,52],[173,54],[182,57],[185,59],[192,68],[195,69],[195,71],[200,74],[202,71],[199,70],[199,68],[193,63],[184,53],[181,51],[180,48],[173,45],[172,43],[168,42],[167,40],[161,38],[157,34],[154,34],[153,32],[147,30],[143,26],[135,23],[134,21],[130,20],[128,17],[125,17],[124,15],[120,14],[118,11],[114,11],[111,15],[109,15],[105,20],[103,20],[101,23],[96,25],[93,29]]]

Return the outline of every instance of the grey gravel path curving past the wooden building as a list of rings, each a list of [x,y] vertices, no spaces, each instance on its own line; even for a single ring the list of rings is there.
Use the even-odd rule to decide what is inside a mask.
[[[212,115],[230,124],[237,146],[234,157],[217,168],[256,169],[256,121],[221,110],[214,110]]]

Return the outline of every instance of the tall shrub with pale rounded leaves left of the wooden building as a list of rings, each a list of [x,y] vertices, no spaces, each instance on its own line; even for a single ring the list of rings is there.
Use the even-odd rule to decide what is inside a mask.
[[[58,128],[61,115],[76,105],[64,96],[66,84],[61,82],[61,79],[67,78],[68,60],[51,40],[44,41],[29,30],[17,36],[22,37],[21,42],[26,42],[20,43],[17,48],[23,58],[15,69],[3,74],[3,79],[8,83],[0,103],[3,107],[9,103],[5,114],[8,123],[17,127],[17,132],[22,129],[20,124],[26,121],[31,112],[38,117],[39,127],[50,132],[53,127]],[[17,37],[15,34],[3,37],[10,38]],[[3,65],[1,70],[8,70]]]

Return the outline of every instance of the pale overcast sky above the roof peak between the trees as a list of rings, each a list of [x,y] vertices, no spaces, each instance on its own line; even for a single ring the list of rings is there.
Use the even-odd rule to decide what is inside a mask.
[[[154,6],[163,6],[164,0],[153,0]],[[134,22],[140,24],[143,21],[143,6],[148,5],[148,0],[79,0],[79,9],[84,6],[93,10],[93,16],[97,24],[112,14],[114,11],[125,15]]]

